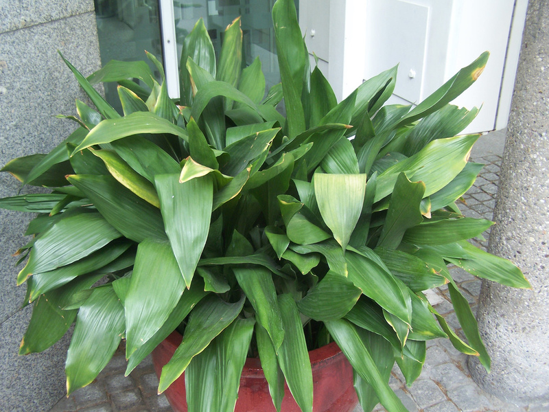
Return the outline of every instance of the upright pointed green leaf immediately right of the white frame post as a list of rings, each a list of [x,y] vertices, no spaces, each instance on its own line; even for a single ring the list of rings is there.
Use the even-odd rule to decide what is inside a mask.
[[[204,20],[200,18],[194,25],[193,30],[188,36],[185,36],[183,43],[183,52],[179,64],[180,96],[183,104],[190,105],[194,95],[187,71],[187,60],[193,60],[198,67],[208,71],[215,77],[215,51],[211,43],[210,36],[204,25]]]

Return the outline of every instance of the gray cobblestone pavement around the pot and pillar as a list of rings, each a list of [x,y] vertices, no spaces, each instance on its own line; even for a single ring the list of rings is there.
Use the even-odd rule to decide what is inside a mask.
[[[498,133],[500,134],[497,135]],[[494,138],[501,143],[504,134],[496,132]],[[496,148],[473,152],[471,155],[472,161],[484,163],[485,166],[475,185],[458,201],[465,216],[491,220],[498,190],[501,152],[502,144]],[[478,241],[478,246],[487,247],[488,236],[489,231],[484,233],[486,240]],[[454,267],[450,272],[476,313],[480,280],[460,268]],[[428,299],[456,333],[461,334],[447,287],[432,290]],[[528,408],[503,402],[482,391],[469,376],[466,361],[467,356],[455,350],[447,339],[428,341],[423,372],[416,382],[411,387],[406,387],[404,376],[395,367],[389,385],[410,412],[528,412]],[[150,356],[127,378],[124,378],[125,369],[124,351],[119,349],[91,385],[75,391],[69,398],[63,398],[49,412],[172,411],[165,396],[156,396],[158,379]],[[381,411],[385,409],[379,405],[374,409],[374,412]],[[358,406],[353,412],[363,411]]]

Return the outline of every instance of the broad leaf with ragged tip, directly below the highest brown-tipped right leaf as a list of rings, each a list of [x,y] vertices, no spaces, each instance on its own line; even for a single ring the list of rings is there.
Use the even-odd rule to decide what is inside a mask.
[[[434,139],[445,139],[458,135],[461,130],[471,123],[478,114],[478,108],[471,111],[447,104],[439,111],[421,119],[408,137],[404,145],[403,153],[412,156],[419,152],[426,144]]]

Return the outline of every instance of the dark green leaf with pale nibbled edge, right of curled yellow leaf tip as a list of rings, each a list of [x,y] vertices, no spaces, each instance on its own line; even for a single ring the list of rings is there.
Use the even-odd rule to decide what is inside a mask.
[[[230,176],[236,176],[242,172],[269,148],[272,139],[277,136],[279,130],[280,128],[273,128],[254,133],[227,146],[224,150],[231,155],[231,160],[221,168],[221,171]]]

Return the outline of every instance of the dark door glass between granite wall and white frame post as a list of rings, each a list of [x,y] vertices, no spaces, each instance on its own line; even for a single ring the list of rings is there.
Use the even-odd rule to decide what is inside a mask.
[[[94,0],[101,63],[110,60],[144,60],[153,73],[156,67],[145,50],[163,60],[158,0]],[[159,78],[159,73],[155,73]],[[141,84],[146,87],[144,84]],[[105,84],[106,100],[119,112],[117,84]]]

